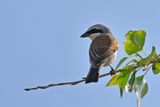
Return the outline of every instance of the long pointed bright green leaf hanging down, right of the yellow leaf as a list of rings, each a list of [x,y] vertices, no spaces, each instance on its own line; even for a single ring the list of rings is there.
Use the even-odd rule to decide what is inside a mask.
[[[133,71],[133,67],[131,65],[125,66],[121,69],[121,72],[118,77],[118,86],[120,89],[120,95],[123,96],[123,91],[127,85],[130,73]]]

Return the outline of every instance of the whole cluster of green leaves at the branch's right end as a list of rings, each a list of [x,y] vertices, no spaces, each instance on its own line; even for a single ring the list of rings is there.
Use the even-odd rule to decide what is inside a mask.
[[[146,32],[143,30],[129,31],[125,35],[126,41],[123,42],[124,50],[128,56],[123,57],[115,70],[120,68],[120,73],[115,74],[107,83],[107,86],[117,85],[120,90],[121,97],[124,90],[136,92],[137,98],[143,98],[148,92],[148,84],[145,75],[152,68],[154,74],[160,73],[159,56],[153,46],[149,55],[146,55],[143,47],[146,38]],[[141,75],[139,75],[141,74]]]

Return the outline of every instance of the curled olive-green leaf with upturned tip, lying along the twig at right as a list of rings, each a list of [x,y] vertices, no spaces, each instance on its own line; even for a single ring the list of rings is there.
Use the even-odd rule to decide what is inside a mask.
[[[150,64],[151,61],[153,61],[155,57],[156,57],[156,50],[155,50],[155,47],[153,46],[151,54],[148,55],[146,58],[141,59],[137,63],[137,65],[138,66],[146,66],[146,65]]]

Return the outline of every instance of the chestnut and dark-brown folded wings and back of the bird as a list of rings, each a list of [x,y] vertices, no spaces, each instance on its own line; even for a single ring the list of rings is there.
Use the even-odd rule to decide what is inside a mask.
[[[92,67],[99,67],[102,61],[111,55],[110,47],[112,38],[110,36],[98,36],[95,38],[89,49],[90,63]]]

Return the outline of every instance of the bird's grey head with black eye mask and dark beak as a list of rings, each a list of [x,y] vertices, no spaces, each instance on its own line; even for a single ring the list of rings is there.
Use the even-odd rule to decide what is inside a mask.
[[[102,24],[95,24],[90,28],[88,28],[88,30],[81,35],[81,38],[89,37],[93,40],[102,33],[111,33],[111,32],[106,26]]]

